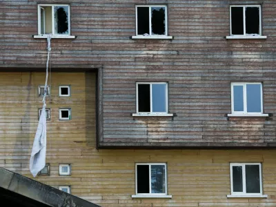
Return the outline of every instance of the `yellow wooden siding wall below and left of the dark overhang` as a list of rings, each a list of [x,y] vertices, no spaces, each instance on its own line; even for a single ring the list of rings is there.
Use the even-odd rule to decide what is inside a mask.
[[[0,166],[31,177],[28,170],[41,97],[37,86],[45,74],[0,74]],[[50,176],[38,181],[100,206],[276,206],[276,150],[97,150],[95,148],[95,74],[53,73],[48,121],[47,162]],[[71,97],[59,97],[70,85]],[[72,108],[72,120],[59,121],[59,108]],[[166,162],[172,199],[132,199],[135,162]],[[268,199],[226,198],[229,162],[262,162]],[[72,164],[72,175],[59,176],[59,164]]]

